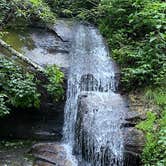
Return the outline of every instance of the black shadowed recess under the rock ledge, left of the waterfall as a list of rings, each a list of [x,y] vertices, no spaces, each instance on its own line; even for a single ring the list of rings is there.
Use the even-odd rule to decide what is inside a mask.
[[[47,109],[18,110],[0,119],[1,139],[61,140],[64,103]]]

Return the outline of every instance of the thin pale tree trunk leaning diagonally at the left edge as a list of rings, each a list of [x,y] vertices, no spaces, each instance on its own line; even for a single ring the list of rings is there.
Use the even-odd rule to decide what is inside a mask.
[[[5,43],[3,40],[0,39],[0,46],[2,48],[5,48],[7,51],[9,51],[12,55],[18,57],[19,59],[21,59],[23,62],[25,62],[26,64],[30,65],[31,67],[33,67],[35,70],[37,70],[38,72],[44,72],[44,68],[41,67],[40,65],[36,64],[35,62],[33,62],[31,59],[27,58],[26,56],[24,56],[23,54],[19,53],[18,51],[16,51],[15,49],[13,49],[10,45],[8,45],[7,43]]]

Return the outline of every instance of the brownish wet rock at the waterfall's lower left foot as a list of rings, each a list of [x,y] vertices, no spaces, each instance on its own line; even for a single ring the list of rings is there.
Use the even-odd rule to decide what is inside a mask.
[[[67,159],[67,152],[63,145],[39,143],[32,147],[31,152],[36,158],[34,166],[72,166],[72,161]]]

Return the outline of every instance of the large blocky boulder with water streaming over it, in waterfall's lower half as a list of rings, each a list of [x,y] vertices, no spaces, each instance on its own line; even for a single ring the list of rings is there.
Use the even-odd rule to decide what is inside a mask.
[[[86,95],[87,94],[87,95]],[[82,93],[78,101],[76,152],[93,166],[123,162],[121,123],[127,107],[115,93]]]

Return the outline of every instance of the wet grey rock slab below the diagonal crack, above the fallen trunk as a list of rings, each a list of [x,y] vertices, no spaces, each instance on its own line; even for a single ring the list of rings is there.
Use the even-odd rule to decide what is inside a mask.
[[[34,48],[23,48],[28,58],[41,66],[56,64],[60,68],[69,67],[70,42],[63,42],[54,33],[42,29],[32,29],[30,37]]]

